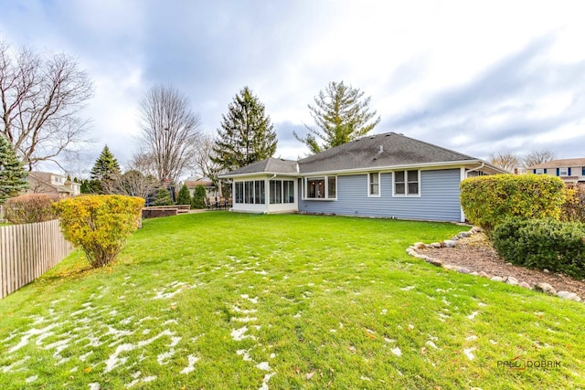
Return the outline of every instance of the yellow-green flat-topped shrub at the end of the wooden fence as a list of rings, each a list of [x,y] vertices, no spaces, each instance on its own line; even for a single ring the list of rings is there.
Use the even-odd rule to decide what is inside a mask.
[[[124,195],[85,195],[53,205],[63,235],[85,252],[91,267],[116,258],[140,224],[144,199]]]

